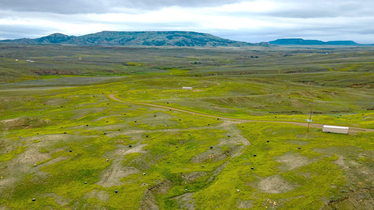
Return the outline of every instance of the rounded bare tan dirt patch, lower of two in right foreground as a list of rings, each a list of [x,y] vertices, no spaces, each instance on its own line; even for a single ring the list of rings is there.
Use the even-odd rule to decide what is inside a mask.
[[[258,188],[265,193],[285,193],[292,191],[294,186],[284,180],[280,175],[269,176],[258,183]]]

